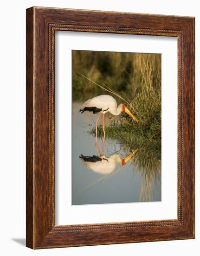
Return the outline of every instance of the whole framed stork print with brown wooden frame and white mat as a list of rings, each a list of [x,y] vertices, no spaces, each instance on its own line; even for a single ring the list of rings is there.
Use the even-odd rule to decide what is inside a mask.
[[[26,10],[26,246],[194,238],[194,17]]]

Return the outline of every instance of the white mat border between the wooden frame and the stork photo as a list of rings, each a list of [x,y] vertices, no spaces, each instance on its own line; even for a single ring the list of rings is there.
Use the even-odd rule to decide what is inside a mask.
[[[162,55],[161,202],[71,206],[71,49],[80,47]],[[177,219],[177,50],[176,37],[55,31],[55,225]]]

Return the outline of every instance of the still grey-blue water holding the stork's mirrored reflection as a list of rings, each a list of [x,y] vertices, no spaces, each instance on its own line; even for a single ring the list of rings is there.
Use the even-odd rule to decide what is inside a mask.
[[[150,193],[144,196],[134,155],[124,152],[120,141],[89,134],[98,115],[81,114],[82,104],[72,104],[72,205],[161,201],[161,179],[152,178]],[[119,118],[105,115],[105,125],[113,124],[120,124]]]

